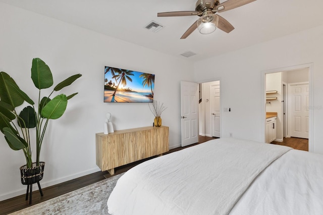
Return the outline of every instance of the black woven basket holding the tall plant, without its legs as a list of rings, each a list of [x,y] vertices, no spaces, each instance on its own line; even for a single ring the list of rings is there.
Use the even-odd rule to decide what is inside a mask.
[[[45,162],[32,163],[31,168],[27,165],[20,167],[21,183],[23,185],[30,185],[39,182],[44,175]]]

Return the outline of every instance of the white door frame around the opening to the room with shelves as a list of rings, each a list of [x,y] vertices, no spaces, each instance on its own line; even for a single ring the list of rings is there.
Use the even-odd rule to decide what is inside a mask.
[[[285,71],[291,71],[291,70],[298,70],[298,69],[305,69],[308,68],[308,84],[309,84],[309,106],[313,106],[313,71],[314,71],[314,63],[308,63],[308,64],[301,64],[301,65],[295,65],[295,66],[290,66],[290,67],[283,67],[283,68],[277,68],[277,69],[272,69],[272,70],[265,70],[261,72],[261,112],[262,112],[262,118],[261,118],[261,123],[262,123],[262,141],[265,142],[265,120],[266,120],[266,74],[270,73],[277,73],[277,72],[285,72]],[[220,91],[221,92],[221,91]],[[314,140],[314,112],[312,109],[309,109],[309,120],[308,120],[308,151],[313,152],[314,151],[314,145],[313,145],[313,140]]]

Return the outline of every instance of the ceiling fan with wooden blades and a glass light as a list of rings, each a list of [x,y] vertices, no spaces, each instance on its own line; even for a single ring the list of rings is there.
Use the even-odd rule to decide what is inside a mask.
[[[175,11],[157,13],[158,17],[177,17],[177,16],[199,16],[200,18],[193,23],[189,29],[183,34],[181,39],[188,37],[196,28],[201,34],[212,33],[216,28],[229,33],[234,27],[223,17],[216,14],[229,11],[234,8],[246,5],[256,0],[227,0],[224,3],[219,0],[197,0],[195,11]]]

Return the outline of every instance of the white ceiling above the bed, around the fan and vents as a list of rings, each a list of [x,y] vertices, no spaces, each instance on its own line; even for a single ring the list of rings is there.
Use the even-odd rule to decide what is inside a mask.
[[[321,0],[257,0],[219,14],[235,27],[229,34],[217,29],[211,34],[202,35],[195,30],[186,39],[180,37],[196,21],[197,16],[157,17],[157,13],[194,11],[195,0],[0,0],[0,2],[169,55],[179,56],[186,51],[197,53],[189,58],[190,61],[199,61],[323,25]],[[156,33],[148,31],[144,27],[152,20],[165,27]]]

